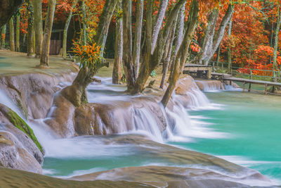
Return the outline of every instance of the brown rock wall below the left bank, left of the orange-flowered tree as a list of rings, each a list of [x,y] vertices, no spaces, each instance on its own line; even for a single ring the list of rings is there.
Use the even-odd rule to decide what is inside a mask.
[[[0,89],[20,108],[22,114],[30,119],[46,118],[52,106],[53,95],[60,88],[60,82],[70,82],[70,73],[47,75],[27,73],[0,77]]]

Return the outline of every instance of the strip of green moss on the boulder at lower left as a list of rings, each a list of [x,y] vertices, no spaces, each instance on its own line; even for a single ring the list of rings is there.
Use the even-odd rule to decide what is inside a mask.
[[[22,132],[25,132],[25,134],[27,134],[28,137],[30,137],[30,139],[32,139],[32,141],[34,142],[34,144],[37,145],[38,149],[41,151],[41,153],[44,153],[44,149],[41,146],[41,144],[39,143],[39,141],[37,140],[37,137],[35,136],[32,128],[30,128],[29,125],[27,125],[27,123],[25,123],[24,120],[22,120],[22,118],[20,118],[20,116],[15,113],[14,111],[12,111],[10,109],[10,111],[8,111],[6,118],[8,118],[8,120],[10,120],[10,122],[17,127],[19,130],[21,130]]]

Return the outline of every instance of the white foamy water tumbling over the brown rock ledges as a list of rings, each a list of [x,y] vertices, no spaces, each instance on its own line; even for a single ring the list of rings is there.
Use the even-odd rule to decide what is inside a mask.
[[[117,84],[112,84],[111,78],[98,77],[101,80],[101,84],[90,84],[87,88],[89,102],[96,103],[114,103],[114,101],[129,101],[131,97],[124,94],[126,87],[120,86]],[[59,84],[60,88],[63,88],[69,85],[70,82],[63,82]],[[195,84],[196,85],[196,84]],[[200,89],[193,88],[191,92],[187,93],[190,96],[190,106],[189,110],[198,111],[198,110],[221,110],[222,106],[218,104],[211,104],[207,96],[204,95]],[[1,101],[6,106],[13,109],[21,117],[20,110],[18,106],[13,104],[4,92],[0,92]],[[174,94],[174,99],[177,100],[177,96]],[[200,121],[200,118],[190,118],[187,109],[185,109],[181,104],[174,106],[173,111],[169,109],[164,109],[164,107],[159,104],[162,108],[162,112],[166,118],[167,127],[166,130],[162,133],[159,130],[159,125],[155,117],[146,109],[146,108],[135,108],[133,113],[133,130],[129,132],[119,132],[120,134],[145,134],[146,136],[152,138],[157,142],[176,141],[176,142],[192,142],[193,138],[223,138],[229,137],[228,134],[223,132],[216,132],[209,128],[210,124],[203,123]],[[52,106],[48,112],[47,118],[51,117],[51,114],[55,112],[56,107]],[[170,125],[167,116],[174,120],[173,125]],[[22,117],[24,118],[24,117]],[[84,151],[89,151],[94,146],[89,146],[83,139],[58,139],[53,131],[44,123],[44,119],[41,120],[32,120],[28,122],[30,127],[34,130],[34,134],[37,135],[39,142],[44,146],[46,150],[46,156],[58,156],[58,157],[75,157],[71,151],[75,148],[77,153],[76,156],[91,156],[93,153],[85,153]],[[119,123],[122,123],[120,121]],[[100,123],[103,125],[103,123]],[[119,125],[117,125],[119,126]],[[121,126],[121,125],[120,125]],[[101,130],[107,130],[107,127],[100,127]]]

